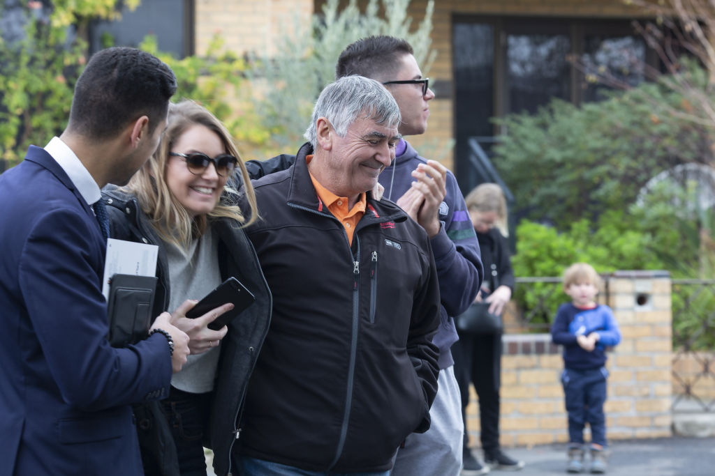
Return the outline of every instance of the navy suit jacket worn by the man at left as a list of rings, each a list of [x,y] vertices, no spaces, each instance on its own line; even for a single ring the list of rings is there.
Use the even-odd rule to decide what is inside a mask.
[[[107,342],[106,243],[44,149],[0,175],[0,476],[141,475],[129,404],[169,393],[167,341]]]

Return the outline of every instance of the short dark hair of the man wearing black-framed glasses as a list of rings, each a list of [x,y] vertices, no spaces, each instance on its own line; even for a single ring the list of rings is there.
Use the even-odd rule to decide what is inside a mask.
[[[335,79],[343,76],[365,76],[377,81],[389,81],[398,69],[398,60],[414,54],[412,46],[394,36],[368,36],[348,45],[337,59]]]

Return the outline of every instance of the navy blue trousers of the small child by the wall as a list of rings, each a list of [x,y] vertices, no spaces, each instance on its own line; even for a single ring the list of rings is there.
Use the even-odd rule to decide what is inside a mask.
[[[606,447],[606,402],[605,367],[589,370],[564,369],[561,373],[563,393],[566,395],[568,412],[568,441],[583,445],[583,427],[591,427],[591,442]]]

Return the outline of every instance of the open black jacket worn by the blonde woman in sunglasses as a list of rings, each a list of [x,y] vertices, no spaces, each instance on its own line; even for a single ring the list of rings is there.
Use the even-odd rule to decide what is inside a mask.
[[[139,208],[137,198],[122,193],[112,186],[104,189],[102,198],[107,203],[112,238],[159,245],[158,283],[153,315],[157,316],[164,310],[169,310],[167,309],[169,273],[166,251],[162,241],[149,225],[147,216]],[[227,196],[222,197],[222,200],[225,199]],[[226,475],[230,471],[229,455],[236,440],[237,420],[244,402],[248,379],[268,332],[272,296],[263,278],[255,250],[244,231],[238,228],[235,221],[226,218],[218,219],[211,226],[219,235],[221,278],[235,276],[256,297],[255,303],[232,320],[228,326],[229,331],[221,343],[221,358],[214,388],[208,443],[214,451],[216,474]],[[158,457],[159,461],[166,460],[164,455],[154,455],[154,457]]]

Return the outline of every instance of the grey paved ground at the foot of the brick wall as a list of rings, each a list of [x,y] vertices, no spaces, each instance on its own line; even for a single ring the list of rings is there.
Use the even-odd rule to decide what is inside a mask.
[[[566,445],[512,448],[526,462],[515,476],[565,475]],[[478,452],[479,453],[479,452]],[[492,471],[493,475],[511,474]],[[670,437],[611,442],[610,476],[715,476],[715,437]]]

